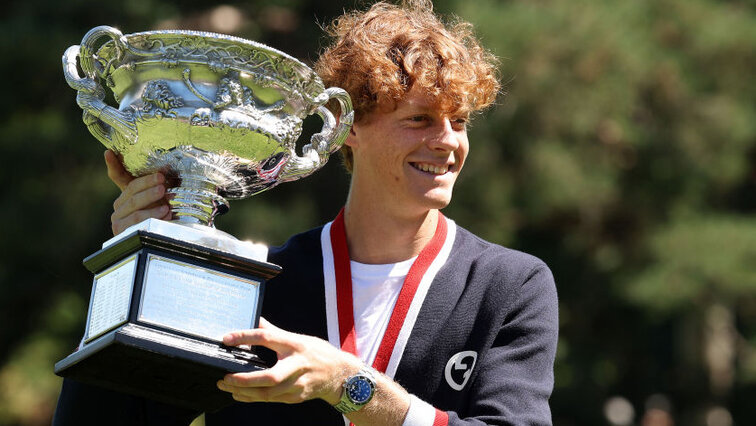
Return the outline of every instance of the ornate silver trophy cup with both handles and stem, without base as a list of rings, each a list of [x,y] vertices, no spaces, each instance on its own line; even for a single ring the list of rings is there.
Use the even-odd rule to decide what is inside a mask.
[[[312,69],[283,52],[228,35],[123,35],[100,26],[66,50],[63,68],[85,124],[127,171],[175,178],[168,198],[184,223],[212,225],[228,199],[313,173],[354,120],[344,90],[325,89]],[[103,85],[118,108],[106,104]],[[326,108],[331,99],[341,108],[338,123]],[[300,156],[296,141],[312,114],[323,128]]]

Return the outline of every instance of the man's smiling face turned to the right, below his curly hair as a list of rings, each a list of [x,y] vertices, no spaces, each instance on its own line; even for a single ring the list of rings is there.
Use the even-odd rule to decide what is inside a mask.
[[[398,214],[446,207],[464,165],[467,115],[450,116],[412,89],[392,111],[376,109],[355,123],[351,196],[364,196]]]

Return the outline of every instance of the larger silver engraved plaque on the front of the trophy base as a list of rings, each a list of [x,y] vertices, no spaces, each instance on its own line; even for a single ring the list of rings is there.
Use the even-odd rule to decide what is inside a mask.
[[[260,282],[150,254],[139,320],[220,341],[254,328]]]

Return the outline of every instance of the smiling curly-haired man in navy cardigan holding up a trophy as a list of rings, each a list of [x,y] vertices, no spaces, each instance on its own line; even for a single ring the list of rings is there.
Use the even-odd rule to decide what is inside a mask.
[[[550,424],[557,302],[548,268],[439,212],[467,158],[468,117],[495,99],[493,58],[469,25],[444,26],[430,1],[378,3],[331,31],[316,69],[355,105],[346,205],[271,250],[284,272],[267,286],[265,319],[224,343],[265,346],[278,362],[220,380],[239,402],[208,413],[207,424]],[[134,179],[110,152],[106,163],[123,191],[114,233],[170,218],[162,175]],[[347,382],[362,394],[345,392]],[[123,424],[197,414],[67,381],[56,421],[113,410]]]

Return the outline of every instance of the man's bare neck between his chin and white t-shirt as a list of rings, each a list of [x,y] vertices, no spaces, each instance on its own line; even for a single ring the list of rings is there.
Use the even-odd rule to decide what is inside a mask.
[[[417,256],[433,238],[438,210],[415,215],[392,214],[352,197],[344,208],[351,260],[368,264],[396,263]]]

